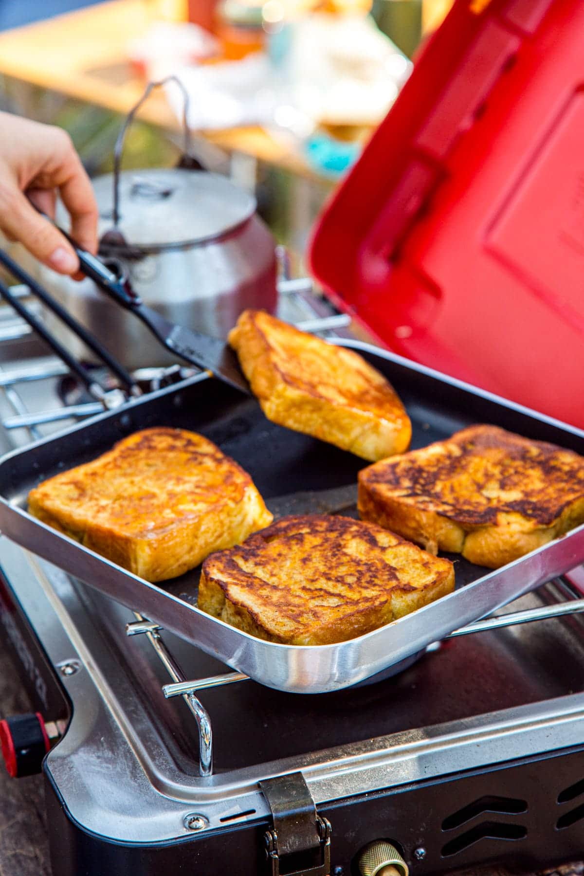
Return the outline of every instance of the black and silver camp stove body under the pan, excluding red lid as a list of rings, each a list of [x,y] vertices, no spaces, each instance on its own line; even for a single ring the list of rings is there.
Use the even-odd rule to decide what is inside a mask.
[[[306,282],[280,291],[286,319],[350,330]],[[4,448],[95,413],[2,314]],[[45,775],[54,876],[423,876],[581,856],[584,627],[553,617],[581,596],[578,572],[504,610],[548,619],[313,696],[246,680],[5,538],[0,572],[4,642],[38,710],[4,724],[4,753],[13,774]]]

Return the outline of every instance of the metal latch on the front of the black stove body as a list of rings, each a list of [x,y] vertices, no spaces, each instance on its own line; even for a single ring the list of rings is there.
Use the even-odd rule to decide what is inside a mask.
[[[330,876],[331,826],[317,814],[304,776],[289,773],[260,781],[259,787],[274,822],[264,835],[272,876]],[[282,868],[282,858],[288,856],[294,856],[299,869]]]

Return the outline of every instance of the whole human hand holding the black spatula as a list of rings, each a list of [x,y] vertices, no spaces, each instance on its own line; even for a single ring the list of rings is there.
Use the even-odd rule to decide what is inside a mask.
[[[0,112],[0,230],[53,271],[81,279],[71,244],[32,206],[54,218],[57,191],[71,215],[71,237],[95,253],[95,195],[68,134]]]

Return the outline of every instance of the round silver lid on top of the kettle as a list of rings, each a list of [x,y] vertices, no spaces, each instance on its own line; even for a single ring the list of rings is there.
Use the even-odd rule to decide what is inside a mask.
[[[112,173],[94,181],[100,234],[113,228]],[[256,212],[256,200],[217,173],[179,168],[126,170],[119,180],[126,242],[144,251],[201,244],[235,230]]]

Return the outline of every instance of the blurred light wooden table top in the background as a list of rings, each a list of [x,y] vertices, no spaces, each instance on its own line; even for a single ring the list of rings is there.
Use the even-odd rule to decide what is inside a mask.
[[[0,33],[0,75],[125,114],[144,90],[144,81],[127,61],[127,46],[151,25],[150,7],[144,0],[110,0]],[[163,94],[151,95],[140,117],[166,130],[179,130]],[[305,161],[261,128],[209,131],[203,136],[228,152],[315,176]]]

